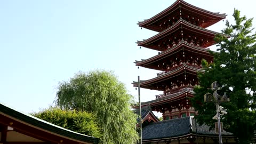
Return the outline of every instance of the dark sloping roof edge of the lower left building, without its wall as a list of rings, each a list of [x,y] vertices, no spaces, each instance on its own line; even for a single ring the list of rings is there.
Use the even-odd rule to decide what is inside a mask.
[[[84,135],[81,133],[64,129],[63,127],[43,121],[42,119],[31,116],[29,114],[21,113],[20,111],[14,110],[0,103],[0,119],[2,120],[5,117],[7,119],[12,119],[11,122],[13,122],[12,127],[14,128],[14,130],[16,129],[16,127],[19,127],[18,123],[22,123],[29,127],[33,127],[33,129],[35,130],[38,130],[38,131],[43,130],[44,132],[50,133],[52,134],[52,137],[53,136],[61,137],[62,139],[68,139],[73,142],[77,141],[79,143],[87,143],[87,142],[98,143],[99,142],[98,138],[90,137],[88,135]],[[66,142],[64,141],[63,143],[66,143]]]

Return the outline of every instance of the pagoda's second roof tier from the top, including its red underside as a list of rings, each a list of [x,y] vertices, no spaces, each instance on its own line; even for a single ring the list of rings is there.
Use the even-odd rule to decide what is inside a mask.
[[[191,42],[202,41],[201,45],[199,45],[200,47],[208,47],[215,44],[214,37],[217,34],[220,33],[192,25],[191,23],[180,19],[161,33],[148,39],[144,39],[143,41],[138,41],[137,44],[138,46],[147,47],[149,49],[165,51],[167,48],[171,48],[173,45],[178,44],[181,39],[191,39]]]

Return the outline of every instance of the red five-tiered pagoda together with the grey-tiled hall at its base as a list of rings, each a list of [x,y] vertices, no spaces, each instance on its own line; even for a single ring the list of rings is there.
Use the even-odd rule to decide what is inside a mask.
[[[145,89],[163,91],[155,100],[142,102],[143,143],[216,143],[218,134],[206,125],[199,126],[190,98],[199,85],[197,73],[202,71],[202,59],[213,62],[209,46],[218,33],[206,29],[225,19],[226,14],[214,13],[185,1],[177,0],[154,17],[138,23],[139,27],[157,31],[153,37],[138,41],[138,46],[159,51],[154,57],[135,61],[136,66],[161,70],[156,77],[141,81]],[[138,82],[133,82],[138,86]],[[138,108],[138,107],[134,107]],[[150,111],[163,114],[163,121]],[[235,142],[231,133],[223,132],[222,141]]]

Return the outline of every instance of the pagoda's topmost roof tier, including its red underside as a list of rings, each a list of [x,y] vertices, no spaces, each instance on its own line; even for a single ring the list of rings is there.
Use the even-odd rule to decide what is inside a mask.
[[[168,27],[175,19],[181,18],[193,18],[198,22],[199,27],[209,27],[214,23],[225,19],[226,14],[214,13],[189,3],[185,1],[178,0],[171,6],[167,7],[164,11],[156,14],[154,17],[141,21],[138,23],[139,27],[147,28],[150,30],[161,32],[166,27]],[[161,26],[162,25],[162,26]]]

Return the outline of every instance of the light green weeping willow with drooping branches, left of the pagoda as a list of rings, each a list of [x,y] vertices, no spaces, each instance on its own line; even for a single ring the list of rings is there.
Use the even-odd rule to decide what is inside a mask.
[[[95,70],[80,72],[60,83],[55,103],[61,109],[95,114],[103,133],[102,143],[135,143],[137,115],[130,107],[132,98],[113,73]]]

